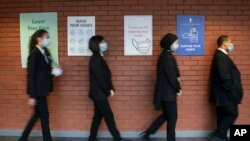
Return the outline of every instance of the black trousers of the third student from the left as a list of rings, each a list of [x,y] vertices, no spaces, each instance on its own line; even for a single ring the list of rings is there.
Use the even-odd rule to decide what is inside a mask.
[[[162,102],[163,114],[160,115],[145,131],[146,134],[154,134],[162,124],[167,121],[167,141],[175,141],[175,127],[177,122],[177,103]]]

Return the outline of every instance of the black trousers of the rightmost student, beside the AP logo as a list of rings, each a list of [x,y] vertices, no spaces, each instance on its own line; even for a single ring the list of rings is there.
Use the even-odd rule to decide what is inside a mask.
[[[238,117],[238,105],[216,107],[217,130],[215,136],[221,139],[227,138],[227,131]]]

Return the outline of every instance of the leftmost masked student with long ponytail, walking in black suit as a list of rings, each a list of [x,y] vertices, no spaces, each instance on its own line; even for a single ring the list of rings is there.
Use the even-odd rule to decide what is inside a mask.
[[[49,112],[46,97],[52,91],[51,57],[46,47],[50,44],[49,33],[37,30],[30,39],[27,75],[28,104],[34,113],[18,141],[28,141],[29,134],[38,119],[41,120],[44,141],[52,141],[49,128]]]

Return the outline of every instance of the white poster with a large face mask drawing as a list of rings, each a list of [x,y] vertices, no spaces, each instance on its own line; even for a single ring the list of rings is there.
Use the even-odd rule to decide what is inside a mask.
[[[152,16],[124,16],[124,55],[152,55]]]

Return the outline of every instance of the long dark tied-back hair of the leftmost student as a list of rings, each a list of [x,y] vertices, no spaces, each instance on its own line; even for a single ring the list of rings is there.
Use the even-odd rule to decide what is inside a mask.
[[[30,43],[29,43],[29,53],[35,48],[37,45],[37,38],[43,37],[44,34],[48,34],[48,31],[44,29],[37,30],[31,37],[30,37]]]

